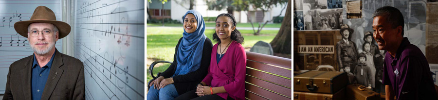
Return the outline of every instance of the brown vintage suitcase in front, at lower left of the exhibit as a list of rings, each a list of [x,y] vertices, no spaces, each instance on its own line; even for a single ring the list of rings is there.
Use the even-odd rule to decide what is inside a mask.
[[[346,72],[312,70],[293,77],[293,91],[334,94],[347,82]]]

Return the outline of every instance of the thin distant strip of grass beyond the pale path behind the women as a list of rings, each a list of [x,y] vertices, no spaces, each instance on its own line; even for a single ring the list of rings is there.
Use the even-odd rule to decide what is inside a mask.
[[[163,26],[163,24],[159,23],[148,23],[146,24],[147,26]],[[263,24],[261,24],[262,26]],[[164,24],[164,26],[183,26],[183,24]],[[215,23],[213,22],[206,22],[205,26],[207,27],[215,27]],[[260,26],[260,27],[261,27]],[[237,28],[238,27],[252,27],[251,23],[237,23]],[[254,23],[254,27],[257,29],[258,27],[258,23]],[[271,23],[271,24],[266,24],[264,28],[280,28],[281,27],[281,23]]]

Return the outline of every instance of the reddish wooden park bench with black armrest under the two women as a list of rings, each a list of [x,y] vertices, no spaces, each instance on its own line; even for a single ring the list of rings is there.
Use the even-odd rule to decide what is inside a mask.
[[[246,51],[246,56],[245,98],[247,100],[292,99],[291,59],[249,51]],[[153,75],[152,70],[158,63],[171,62],[153,62],[149,67],[149,73],[154,79],[156,77]],[[149,88],[149,85],[147,86]]]

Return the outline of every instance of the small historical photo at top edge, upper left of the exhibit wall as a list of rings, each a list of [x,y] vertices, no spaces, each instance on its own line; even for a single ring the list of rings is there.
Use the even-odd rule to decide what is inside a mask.
[[[327,0],[303,0],[303,10],[327,9]]]

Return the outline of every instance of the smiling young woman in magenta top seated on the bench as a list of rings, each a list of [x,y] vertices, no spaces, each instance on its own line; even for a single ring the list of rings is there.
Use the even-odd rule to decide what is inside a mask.
[[[196,90],[176,100],[245,100],[246,52],[231,14],[220,14],[216,18],[213,40],[218,43],[213,46],[207,76]]]

